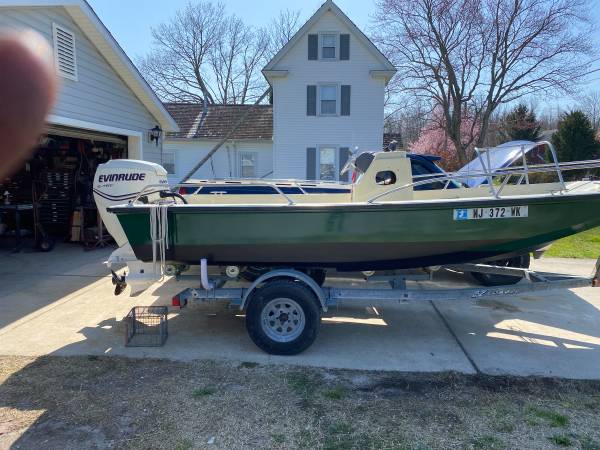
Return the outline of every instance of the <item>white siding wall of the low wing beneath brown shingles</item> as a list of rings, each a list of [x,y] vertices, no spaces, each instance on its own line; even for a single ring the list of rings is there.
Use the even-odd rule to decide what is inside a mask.
[[[175,153],[176,174],[169,176],[170,183],[176,183],[217,143],[215,140],[172,139],[163,144],[164,152]],[[271,141],[230,141],[213,156],[213,164],[207,161],[193,178],[236,178],[239,173],[239,152],[256,152],[257,178],[272,178],[273,144]],[[160,161],[159,161],[160,162]],[[214,171],[213,171],[214,168]]]

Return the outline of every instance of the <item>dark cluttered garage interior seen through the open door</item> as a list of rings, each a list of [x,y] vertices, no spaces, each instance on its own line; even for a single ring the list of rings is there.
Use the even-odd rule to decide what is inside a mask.
[[[93,197],[96,168],[127,158],[127,137],[51,125],[32,157],[0,180],[0,248],[50,251],[111,242]]]

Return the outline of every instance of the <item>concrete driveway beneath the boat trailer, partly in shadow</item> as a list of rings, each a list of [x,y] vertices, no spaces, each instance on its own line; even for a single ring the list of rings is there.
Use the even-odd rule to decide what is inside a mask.
[[[127,348],[120,319],[136,305],[169,305],[170,280],[137,297],[114,297],[101,264],[112,249],[0,253],[0,354],[122,355],[219,359],[396,371],[600,378],[600,289],[544,292],[501,301],[341,305],[301,355],[257,349],[239,311],[222,303],[169,315],[161,348]],[[594,261],[547,259],[534,267],[588,275]],[[437,285],[465,284],[443,274]]]

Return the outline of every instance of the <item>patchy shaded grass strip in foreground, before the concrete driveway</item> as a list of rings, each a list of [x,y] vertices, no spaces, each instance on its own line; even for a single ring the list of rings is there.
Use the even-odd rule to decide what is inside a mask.
[[[0,449],[600,449],[600,382],[0,356]]]

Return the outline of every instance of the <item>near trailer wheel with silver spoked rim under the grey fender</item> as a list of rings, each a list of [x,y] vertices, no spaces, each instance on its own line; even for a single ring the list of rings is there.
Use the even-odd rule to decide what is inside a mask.
[[[303,283],[276,279],[249,299],[246,329],[252,341],[273,355],[296,355],[316,339],[321,309]]]

